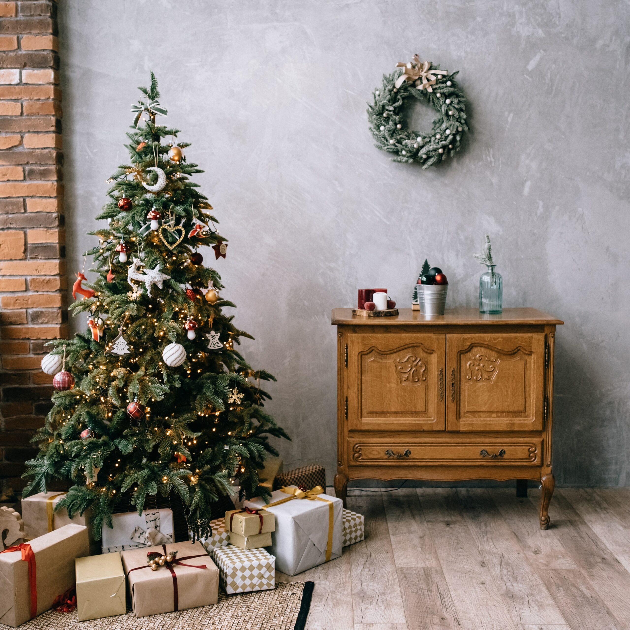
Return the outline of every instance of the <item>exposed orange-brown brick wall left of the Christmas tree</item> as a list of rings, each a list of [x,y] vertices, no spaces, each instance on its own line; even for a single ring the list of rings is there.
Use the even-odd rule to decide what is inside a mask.
[[[55,0],[0,2],[0,481],[20,490],[50,409],[45,340],[67,335]]]

